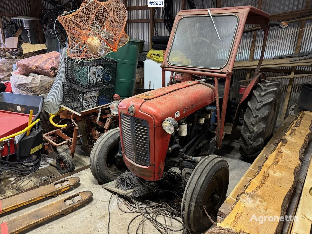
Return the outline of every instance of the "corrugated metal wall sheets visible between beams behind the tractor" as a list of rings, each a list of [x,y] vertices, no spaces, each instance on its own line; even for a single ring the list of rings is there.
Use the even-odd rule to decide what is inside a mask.
[[[65,3],[67,0],[61,0],[62,3]],[[102,2],[105,2],[106,0],[101,0]],[[43,0],[41,0],[45,8],[50,8],[49,5],[47,5]],[[128,7],[133,6],[146,6],[148,0],[128,0]],[[181,0],[174,0],[174,12],[175,14],[178,13],[178,11],[181,9]],[[194,4],[198,8],[212,8],[214,7],[214,4],[216,4],[216,0],[194,0]],[[262,0],[261,9],[270,13],[275,14],[279,12],[287,12],[292,10],[299,10],[303,9],[305,7],[306,0]],[[221,0],[221,6],[222,7],[234,7],[234,6],[244,6],[244,5],[252,5],[257,7],[258,6],[258,0]],[[185,6],[188,8],[188,4]],[[312,7],[312,1],[310,1],[310,7]],[[162,18],[162,12],[163,8],[159,7],[156,8],[155,18],[160,19]],[[10,12],[14,14],[21,14],[21,15],[28,15],[30,13],[30,0],[0,0],[0,12]],[[150,16],[150,9],[145,10],[135,10],[135,11],[128,11],[128,19],[149,19]],[[1,15],[2,23],[4,23],[7,19],[11,18],[7,15]],[[16,22],[16,26],[19,27],[20,23]],[[311,26],[312,20],[307,20],[305,27]],[[127,34],[130,38],[138,38],[145,40],[144,44],[144,51],[149,50],[149,44],[150,44],[150,38],[149,38],[149,29],[150,29],[150,23],[149,22],[139,22],[139,23],[128,23],[128,30]],[[252,25],[249,25],[248,27],[253,27]],[[273,27],[270,28],[270,32],[268,35],[268,42],[273,41],[279,37],[282,37],[284,35],[287,35],[291,32],[294,32],[300,28],[300,22],[290,23],[289,27],[285,29],[281,29],[279,27]],[[154,35],[165,35],[168,36],[169,32],[167,31],[166,27],[164,26],[163,22],[157,22],[155,23],[154,28]],[[265,53],[265,59],[273,58],[273,56],[277,55],[285,55],[289,53],[295,52],[295,46],[298,40],[298,34],[299,32],[290,34],[282,39],[279,39],[277,41],[274,41],[272,43],[267,44],[266,46],[266,53]],[[252,44],[252,37],[253,32],[249,32],[243,35],[241,40],[241,45],[239,50],[242,51],[241,54],[237,55],[236,61],[246,61],[249,60],[250,56],[250,49]],[[302,42],[300,45],[300,52],[304,51],[311,51],[312,50],[312,27],[307,28],[303,32]],[[27,37],[23,39],[27,41]],[[256,45],[261,46],[263,40],[263,32],[258,31],[257,37],[256,37]],[[56,40],[46,40],[47,47],[49,48],[49,51],[51,50],[58,50],[58,45]],[[259,59],[260,57],[261,48],[255,49],[253,59]],[[279,67],[278,69],[287,69],[290,70],[290,67]],[[302,71],[311,71],[311,66],[301,66],[296,67],[296,70],[302,70]],[[285,73],[269,73],[266,72],[266,76],[283,76],[283,75],[289,75],[289,72]],[[238,99],[238,90],[239,90],[239,80],[245,79],[247,75],[246,70],[237,70],[233,73],[233,86],[231,90],[230,97]],[[312,80],[312,77],[305,76],[305,77],[295,77],[294,82],[291,89],[291,96],[290,96],[290,105],[293,104],[299,96],[300,90],[301,90],[301,84]],[[285,100],[285,91],[287,90],[288,81],[289,78],[282,79],[282,90],[283,93],[283,100]],[[284,103],[281,104],[281,110],[283,108]],[[280,110],[280,115],[281,115]]]

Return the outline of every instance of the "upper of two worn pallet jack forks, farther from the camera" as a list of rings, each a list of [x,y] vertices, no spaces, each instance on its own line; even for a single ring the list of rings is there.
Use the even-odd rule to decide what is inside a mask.
[[[36,202],[45,197],[56,197],[58,194],[73,188],[79,182],[79,177],[71,177],[0,200],[0,214],[14,210],[21,206],[25,206],[29,203]]]

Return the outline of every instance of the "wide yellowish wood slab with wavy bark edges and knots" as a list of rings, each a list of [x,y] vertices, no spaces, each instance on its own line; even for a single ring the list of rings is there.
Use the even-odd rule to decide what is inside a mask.
[[[311,133],[312,113],[303,111],[238,196],[228,216],[207,233],[280,233],[283,222],[279,219],[261,224],[251,218],[285,215]]]

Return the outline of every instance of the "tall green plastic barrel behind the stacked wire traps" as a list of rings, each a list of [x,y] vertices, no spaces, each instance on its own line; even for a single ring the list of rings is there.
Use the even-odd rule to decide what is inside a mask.
[[[117,52],[111,52],[109,55],[106,55],[106,57],[111,57],[117,61],[115,94],[119,94],[122,99],[131,97],[134,92],[139,42],[138,40],[130,39]]]

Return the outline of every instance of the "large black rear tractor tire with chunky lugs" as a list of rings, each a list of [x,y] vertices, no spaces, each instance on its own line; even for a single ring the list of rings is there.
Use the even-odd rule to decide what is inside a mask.
[[[247,103],[241,127],[240,151],[248,158],[255,158],[263,149],[266,139],[274,132],[280,108],[280,82],[260,80]]]

